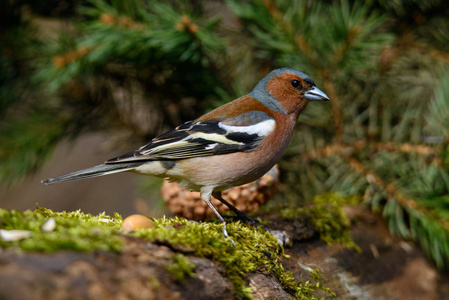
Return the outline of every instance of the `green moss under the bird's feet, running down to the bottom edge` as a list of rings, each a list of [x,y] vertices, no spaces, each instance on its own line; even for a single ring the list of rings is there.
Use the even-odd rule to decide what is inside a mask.
[[[139,229],[132,235],[186,247],[194,255],[219,262],[224,267],[224,275],[233,282],[239,299],[251,298],[251,289],[246,286],[247,274],[260,269],[274,274],[284,289],[298,299],[316,299],[313,293],[318,289],[333,295],[320,283],[296,282],[293,274],[285,271],[280,263],[282,247],[262,229],[256,230],[240,222],[229,223],[227,229],[234,246],[223,238],[221,224],[199,224],[181,218],[154,219],[154,222],[154,228]]]

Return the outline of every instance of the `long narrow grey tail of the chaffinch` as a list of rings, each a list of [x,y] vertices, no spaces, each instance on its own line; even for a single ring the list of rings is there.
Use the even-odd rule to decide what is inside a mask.
[[[68,174],[64,174],[61,176],[57,176],[55,178],[45,179],[45,180],[42,180],[41,182],[45,183],[45,184],[53,184],[53,183],[64,182],[64,181],[98,177],[98,176],[103,176],[103,175],[109,175],[109,174],[129,171],[129,170],[134,169],[137,166],[140,166],[141,164],[142,164],[142,162],[98,165],[98,166],[95,166],[92,168],[88,168],[88,169],[76,171],[73,173],[68,173]]]

